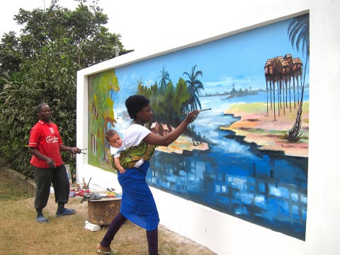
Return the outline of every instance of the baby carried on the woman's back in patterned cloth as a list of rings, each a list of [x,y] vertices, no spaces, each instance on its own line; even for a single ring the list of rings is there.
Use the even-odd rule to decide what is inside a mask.
[[[110,153],[111,157],[115,160],[115,166],[117,167],[118,171],[120,174],[125,173],[125,169],[123,166],[120,165],[120,152],[125,150],[125,143],[123,139],[118,135],[118,132],[115,130],[108,130],[105,134],[105,138],[110,144]],[[136,164],[135,167],[138,168],[140,167],[144,162],[144,159],[140,159]]]

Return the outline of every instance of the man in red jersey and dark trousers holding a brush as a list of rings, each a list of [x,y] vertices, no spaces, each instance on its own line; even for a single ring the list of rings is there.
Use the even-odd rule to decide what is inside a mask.
[[[69,201],[69,179],[62,162],[60,151],[80,153],[77,147],[66,147],[57,125],[50,121],[51,110],[47,103],[38,106],[39,121],[30,130],[28,152],[33,154],[30,164],[34,166],[34,181],[36,186],[34,206],[37,210],[37,222],[48,223],[42,209],[47,205],[50,196],[50,186],[55,190],[55,203],[58,204],[56,216],[72,215],[74,209],[64,208]]]

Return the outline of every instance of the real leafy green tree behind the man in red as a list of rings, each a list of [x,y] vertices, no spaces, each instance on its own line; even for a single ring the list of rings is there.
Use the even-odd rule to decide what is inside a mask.
[[[0,156],[27,176],[32,172],[26,145],[29,130],[38,120],[38,104],[50,105],[64,144],[74,147],[77,71],[115,57],[115,46],[123,54],[129,52],[120,35],[108,33],[103,26],[108,18],[101,8],[80,1],[70,11],[57,2],[53,0],[46,10],[20,9],[15,19],[24,26],[21,35],[16,38],[7,33],[0,44],[4,86],[0,93]],[[66,164],[75,164],[69,154],[62,157]]]

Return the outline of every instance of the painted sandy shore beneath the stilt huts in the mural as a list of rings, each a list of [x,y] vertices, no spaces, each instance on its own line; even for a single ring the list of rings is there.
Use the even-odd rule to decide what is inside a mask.
[[[293,127],[298,105],[280,109],[276,116],[266,103],[234,103],[225,114],[240,119],[229,126],[221,126],[220,130],[234,132],[235,136],[244,137],[244,142],[254,142],[263,151],[283,152],[287,156],[308,157],[309,140],[309,102],[302,104],[302,135],[295,142],[285,138]]]

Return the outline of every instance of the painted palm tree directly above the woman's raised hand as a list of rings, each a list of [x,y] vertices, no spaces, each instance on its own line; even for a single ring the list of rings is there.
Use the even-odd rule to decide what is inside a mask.
[[[203,77],[202,71],[196,71],[197,64],[195,64],[191,69],[191,74],[187,72],[183,72],[183,75],[186,74],[188,76],[188,80],[186,80],[186,84],[188,85],[188,91],[190,94],[190,98],[186,102],[186,106],[184,106],[184,112],[188,113],[190,111],[196,110],[198,108],[202,108],[200,105],[200,89],[204,89],[202,81],[198,79],[198,76]]]

